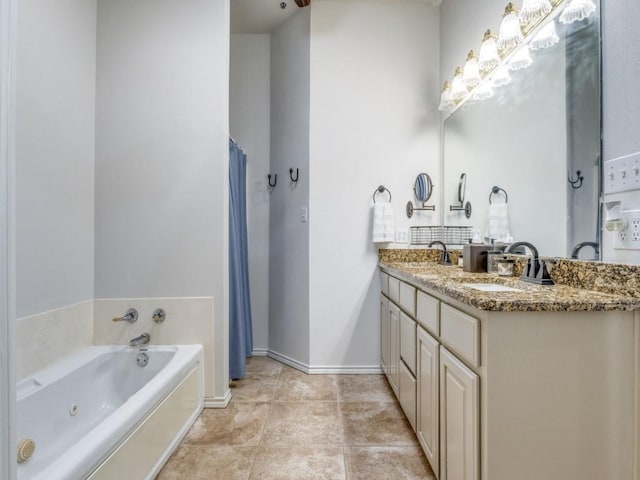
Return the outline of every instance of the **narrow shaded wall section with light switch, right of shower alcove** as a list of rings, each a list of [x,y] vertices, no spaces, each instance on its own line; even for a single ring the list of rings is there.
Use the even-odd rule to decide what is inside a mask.
[[[301,9],[271,35],[271,192],[269,349],[309,362],[309,22]],[[299,168],[297,184],[289,168]],[[313,218],[314,212],[310,212]]]

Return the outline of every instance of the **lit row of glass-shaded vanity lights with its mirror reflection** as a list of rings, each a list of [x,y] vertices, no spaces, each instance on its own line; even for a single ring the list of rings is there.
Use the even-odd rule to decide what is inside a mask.
[[[509,2],[505,7],[500,35],[487,30],[480,55],[467,55],[464,70],[456,68],[451,83],[445,82],[438,109],[451,114],[469,99],[493,96],[493,88],[511,82],[509,70],[531,66],[529,50],[549,48],[560,41],[555,20],[573,23],[591,16],[597,7],[593,0],[523,0],[518,10]]]

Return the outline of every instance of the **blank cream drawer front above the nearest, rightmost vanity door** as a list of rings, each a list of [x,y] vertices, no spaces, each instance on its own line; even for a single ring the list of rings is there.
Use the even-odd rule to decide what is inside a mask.
[[[440,338],[462,358],[476,367],[480,365],[480,320],[442,304]]]

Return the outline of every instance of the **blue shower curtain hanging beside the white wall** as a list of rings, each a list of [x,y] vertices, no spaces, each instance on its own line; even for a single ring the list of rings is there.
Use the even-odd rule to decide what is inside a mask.
[[[247,156],[229,140],[229,378],[245,376],[253,351],[247,249]]]

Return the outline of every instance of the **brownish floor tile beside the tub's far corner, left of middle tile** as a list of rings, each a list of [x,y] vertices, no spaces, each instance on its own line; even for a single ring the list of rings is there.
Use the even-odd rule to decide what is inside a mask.
[[[205,409],[182,444],[258,445],[268,413],[268,403],[232,401],[224,409]]]

